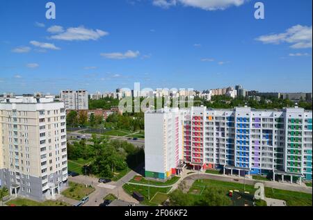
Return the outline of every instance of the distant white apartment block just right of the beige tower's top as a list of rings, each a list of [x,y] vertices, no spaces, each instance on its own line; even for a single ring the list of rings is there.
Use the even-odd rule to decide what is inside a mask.
[[[88,110],[88,91],[86,90],[63,90],[60,94],[65,109]]]

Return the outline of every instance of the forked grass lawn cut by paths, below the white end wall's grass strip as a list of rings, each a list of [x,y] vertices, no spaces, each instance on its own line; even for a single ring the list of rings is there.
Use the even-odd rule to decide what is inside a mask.
[[[158,203],[154,203],[154,202],[149,200],[148,188],[150,191],[150,199],[152,199],[155,196],[155,194],[157,194],[157,193],[167,194],[172,187],[145,187],[145,186],[141,186],[141,185],[131,185],[131,184],[123,185],[123,189],[125,189],[125,192],[127,192],[127,194],[129,194],[130,196],[132,196],[133,192],[138,192],[141,195],[143,195],[143,197],[145,199],[144,199],[144,201],[141,202],[142,204],[144,204],[144,205],[159,205]]]

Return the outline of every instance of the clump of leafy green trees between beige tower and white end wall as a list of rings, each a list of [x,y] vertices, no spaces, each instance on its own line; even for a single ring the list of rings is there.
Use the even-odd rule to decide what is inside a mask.
[[[111,140],[108,137],[97,138],[93,135],[90,142],[85,141],[67,143],[67,157],[69,160],[90,160],[88,174],[111,178],[115,172],[136,168],[144,161],[145,155],[142,148],[136,148],[126,141]]]

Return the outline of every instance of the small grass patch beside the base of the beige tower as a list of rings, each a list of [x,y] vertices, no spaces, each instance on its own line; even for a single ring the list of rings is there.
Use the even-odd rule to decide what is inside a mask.
[[[63,196],[81,200],[81,198],[95,191],[94,187],[85,187],[83,184],[69,182],[69,188],[62,192]]]

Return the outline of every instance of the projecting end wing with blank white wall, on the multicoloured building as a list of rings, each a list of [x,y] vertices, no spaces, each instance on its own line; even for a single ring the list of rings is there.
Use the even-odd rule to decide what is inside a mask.
[[[145,176],[165,179],[176,172],[182,158],[182,127],[179,109],[145,114]]]

